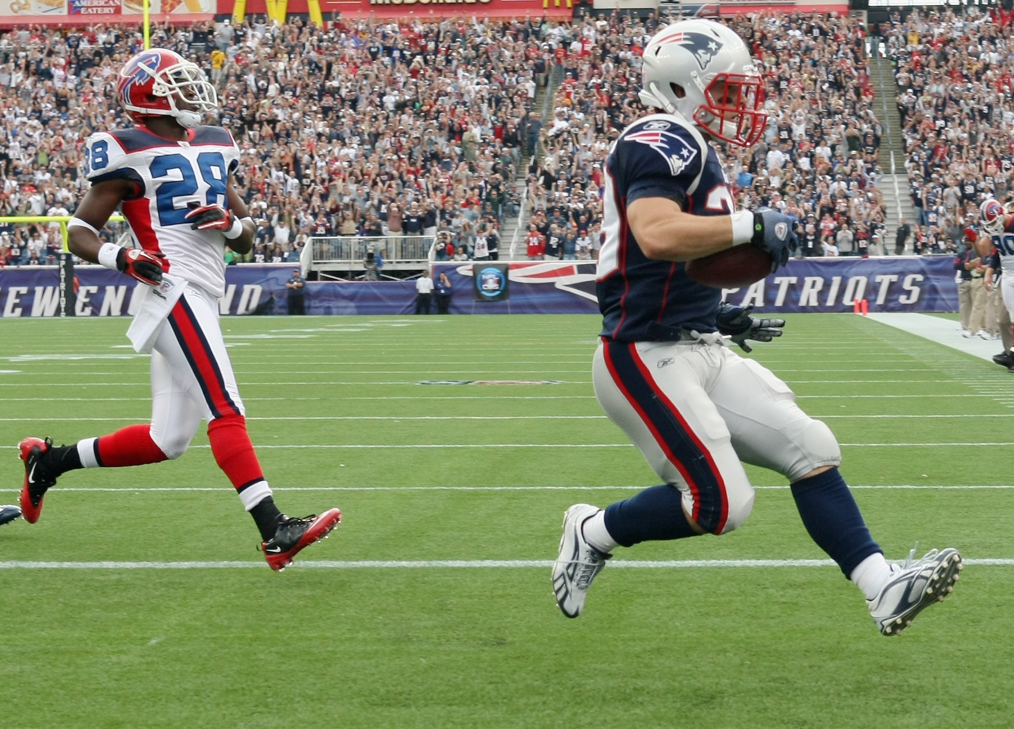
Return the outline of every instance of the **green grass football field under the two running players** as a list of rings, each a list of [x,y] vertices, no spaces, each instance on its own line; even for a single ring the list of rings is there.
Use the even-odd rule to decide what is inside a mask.
[[[178,460],[66,475],[38,524],[0,528],[0,727],[1014,724],[1006,370],[853,314],[750,355],[836,432],[889,559],[969,562],[903,635],[834,566],[787,564],[825,556],[758,468],[742,528],[619,551],[569,621],[564,510],[656,483],[592,393],[597,317],[224,325],[276,501],[343,524],[272,573],[203,428]],[[126,329],[0,320],[0,503],[21,438],[147,420]],[[505,379],[559,382],[424,384]]]

